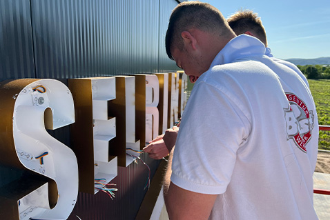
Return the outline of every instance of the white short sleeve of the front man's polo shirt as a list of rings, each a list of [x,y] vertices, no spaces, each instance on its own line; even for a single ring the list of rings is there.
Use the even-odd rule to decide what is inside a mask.
[[[224,193],[251,130],[246,111],[228,89],[197,83],[182,116],[171,181],[193,192]]]

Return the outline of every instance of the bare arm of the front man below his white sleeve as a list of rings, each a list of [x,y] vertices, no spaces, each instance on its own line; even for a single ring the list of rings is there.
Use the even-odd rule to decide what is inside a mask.
[[[174,150],[174,148],[173,148]],[[170,219],[208,219],[217,194],[200,194],[179,188],[171,182],[173,150],[164,177],[164,200]]]

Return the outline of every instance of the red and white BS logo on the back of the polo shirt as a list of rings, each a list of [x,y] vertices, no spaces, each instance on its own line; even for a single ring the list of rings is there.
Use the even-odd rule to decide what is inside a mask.
[[[295,144],[303,151],[306,143],[311,138],[314,127],[313,111],[309,111],[305,103],[295,94],[286,93],[289,100],[289,108],[284,109],[284,117],[287,121],[287,137],[293,139]]]

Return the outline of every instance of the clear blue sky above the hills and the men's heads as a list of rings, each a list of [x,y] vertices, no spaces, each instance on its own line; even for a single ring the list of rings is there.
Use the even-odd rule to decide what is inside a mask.
[[[225,18],[240,9],[257,12],[274,57],[330,57],[330,0],[200,1],[218,8]]]

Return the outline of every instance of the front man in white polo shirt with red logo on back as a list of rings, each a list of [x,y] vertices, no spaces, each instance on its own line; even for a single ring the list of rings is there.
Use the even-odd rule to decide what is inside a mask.
[[[197,79],[165,179],[170,219],[317,219],[318,118],[298,74],[206,3],[173,10],[166,52]]]

